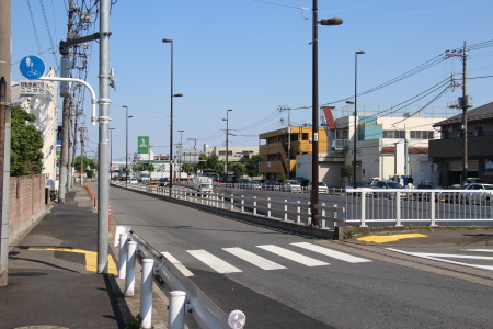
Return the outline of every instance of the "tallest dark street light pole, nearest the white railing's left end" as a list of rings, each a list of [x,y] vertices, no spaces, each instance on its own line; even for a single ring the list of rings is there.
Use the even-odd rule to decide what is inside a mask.
[[[329,20],[317,21],[318,0],[313,0],[313,39],[312,39],[312,56],[313,56],[313,72],[312,72],[312,157],[311,157],[311,194],[310,194],[310,211],[311,225],[318,226],[317,219],[317,204],[319,203],[319,45],[318,45],[318,25],[341,25],[343,23],[340,18],[332,18]]]

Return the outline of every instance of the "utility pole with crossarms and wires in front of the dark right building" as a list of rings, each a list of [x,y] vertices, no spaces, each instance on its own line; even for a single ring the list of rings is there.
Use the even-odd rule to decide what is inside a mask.
[[[462,59],[462,97],[458,99],[458,105],[452,107],[462,109],[462,185],[468,180],[468,109],[472,107],[471,97],[468,95],[467,71],[468,71],[468,54],[466,42],[463,49],[456,54],[455,52],[445,54],[446,57],[459,57]]]

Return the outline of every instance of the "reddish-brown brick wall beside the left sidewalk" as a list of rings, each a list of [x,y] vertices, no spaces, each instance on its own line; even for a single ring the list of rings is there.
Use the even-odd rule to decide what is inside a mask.
[[[15,240],[27,230],[45,209],[45,175],[10,178],[9,240]]]

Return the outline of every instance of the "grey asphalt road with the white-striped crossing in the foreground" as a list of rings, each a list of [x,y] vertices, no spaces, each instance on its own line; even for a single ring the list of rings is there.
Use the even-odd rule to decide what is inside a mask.
[[[382,259],[119,188],[110,203],[225,313],[244,311],[245,328],[491,328],[491,286],[402,265],[393,251]]]

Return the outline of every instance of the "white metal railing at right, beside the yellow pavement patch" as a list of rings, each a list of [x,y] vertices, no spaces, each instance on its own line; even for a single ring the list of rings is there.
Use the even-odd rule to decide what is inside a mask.
[[[389,189],[346,191],[346,223],[362,227],[493,224],[492,192],[468,190]]]

